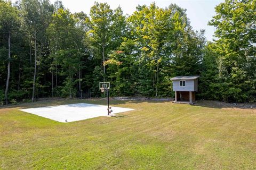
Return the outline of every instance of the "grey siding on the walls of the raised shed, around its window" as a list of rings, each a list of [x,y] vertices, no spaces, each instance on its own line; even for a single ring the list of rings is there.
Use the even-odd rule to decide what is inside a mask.
[[[180,86],[180,81],[182,80],[172,81],[173,91],[197,91],[197,79],[186,80],[186,86]]]

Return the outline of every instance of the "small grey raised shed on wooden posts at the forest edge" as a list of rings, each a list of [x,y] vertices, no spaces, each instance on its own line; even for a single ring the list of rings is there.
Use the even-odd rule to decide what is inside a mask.
[[[196,101],[199,75],[178,76],[171,78],[172,89],[175,91],[174,103],[193,104]]]

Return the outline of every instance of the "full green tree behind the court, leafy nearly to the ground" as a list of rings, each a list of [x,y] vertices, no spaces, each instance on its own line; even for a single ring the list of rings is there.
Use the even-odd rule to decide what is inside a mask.
[[[61,75],[66,76],[65,86],[62,88],[63,96],[68,94],[72,98],[76,92],[75,83],[80,82],[80,78],[75,75],[82,69],[84,57],[83,34],[85,33],[83,23],[78,20],[85,15],[77,14],[77,17],[68,10],[59,8],[53,14],[53,20],[47,29],[47,34],[51,40],[51,53],[54,57],[54,64],[61,66]],[[78,21],[81,21],[79,23]]]

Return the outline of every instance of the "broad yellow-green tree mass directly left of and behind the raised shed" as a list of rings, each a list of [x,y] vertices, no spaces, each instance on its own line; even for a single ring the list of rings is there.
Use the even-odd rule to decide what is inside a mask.
[[[199,74],[204,31],[191,28],[186,10],[173,4],[165,10],[155,3],[138,6],[127,22],[137,45],[141,94],[166,95],[171,76]]]

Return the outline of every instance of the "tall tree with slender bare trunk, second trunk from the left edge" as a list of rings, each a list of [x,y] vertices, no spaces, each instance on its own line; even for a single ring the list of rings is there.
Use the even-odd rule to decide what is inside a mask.
[[[33,41],[34,43],[35,64],[32,91],[32,101],[34,101],[37,83],[38,56],[42,57],[43,54],[45,55],[45,50],[47,50],[46,29],[51,21],[54,8],[48,0],[22,0],[21,10],[25,22],[24,26],[29,35],[29,41]],[[44,46],[46,47],[44,48]]]

